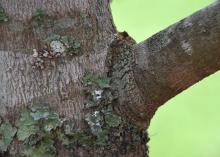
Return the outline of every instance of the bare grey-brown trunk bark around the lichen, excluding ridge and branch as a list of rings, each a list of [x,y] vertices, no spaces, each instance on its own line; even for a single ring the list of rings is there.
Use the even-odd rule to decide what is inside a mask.
[[[86,128],[85,114],[89,111],[84,110],[81,82],[88,71],[107,75],[106,56],[116,33],[109,0],[1,0],[0,4],[9,19],[0,23],[1,116],[14,121],[21,108],[42,102],[71,118],[75,127]],[[46,58],[42,65],[35,65],[33,49],[42,51],[43,41],[52,33],[80,41],[79,54]],[[120,140],[110,141],[104,148],[77,145],[71,155],[146,156],[145,133],[141,133],[140,142],[128,148],[132,145],[130,134],[122,129]],[[69,153],[60,148],[58,156]]]

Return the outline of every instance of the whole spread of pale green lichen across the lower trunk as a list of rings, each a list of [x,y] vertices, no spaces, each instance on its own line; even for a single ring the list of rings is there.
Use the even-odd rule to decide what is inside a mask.
[[[114,114],[112,99],[108,99],[111,93],[110,80],[100,75],[89,74],[84,78],[84,83],[87,87],[102,90],[103,97],[100,101],[104,103],[102,106],[98,105],[97,110],[87,112],[85,122],[88,128],[76,128],[71,120],[61,118],[56,112],[51,111],[48,104],[34,104],[21,112],[15,122],[16,127],[3,121],[0,126],[1,151],[5,152],[10,148],[15,135],[16,140],[21,144],[20,154],[17,155],[25,157],[55,157],[57,142],[70,152],[76,145],[104,148],[111,145],[110,137],[118,139],[121,128],[124,127],[131,134],[132,141],[140,143],[139,130]]]

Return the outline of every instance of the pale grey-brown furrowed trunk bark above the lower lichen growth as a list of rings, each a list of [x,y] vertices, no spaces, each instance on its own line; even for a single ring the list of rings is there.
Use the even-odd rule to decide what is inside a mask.
[[[104,73],[105,56],[115,32],[109,2],[1,0],[1,5],[10,18],[0,24],[1,108],[8,110],[4,113],[12,114],[16,108],[42,98],[80,125],[81,77],[86,70]],[[33,26],[31,17],[38,8],[45,10],[54,22]],[[51,33],[73,35],[82,44],[82,55],[52,59],[53,66],[33,69],[33,49],[40,49],[42,40]]]

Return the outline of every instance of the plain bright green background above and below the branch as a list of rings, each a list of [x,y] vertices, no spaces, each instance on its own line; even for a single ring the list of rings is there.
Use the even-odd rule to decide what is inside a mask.
[[[214,0],[113,0],[119,31],[140,42]],[[220,157],[220,72],[182,92],[154,116],[150,157]]]

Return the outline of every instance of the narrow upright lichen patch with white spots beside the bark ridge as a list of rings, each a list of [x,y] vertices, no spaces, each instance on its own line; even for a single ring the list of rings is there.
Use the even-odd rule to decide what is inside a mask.
[[[111,92],[109,91],[110,79],[94,73],[86,73],[82,82],[89,88],[95,88],[95,90],[89,92],[92,97],[89,101],[90,104],[92,104],[92,106],[99,106],[101,102],[103,103],[100,111],[86,115],[85,120],[90,126],[91,132],[98,137],[98,135],[108,127],[119,126],[122,122],[121,117],[112,113],[113,110],[110,105],[113,100]],[[89,88],[88,91],[90,90]]]

